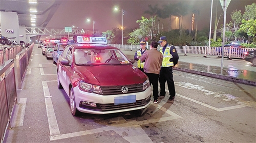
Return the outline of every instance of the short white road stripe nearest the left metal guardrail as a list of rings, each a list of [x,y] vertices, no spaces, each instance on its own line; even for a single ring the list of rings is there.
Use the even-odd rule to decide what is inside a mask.
[[[22,127],[25,116],[27,98],[20,98],[18,102],[17,119],[15,121],[15,127]]]

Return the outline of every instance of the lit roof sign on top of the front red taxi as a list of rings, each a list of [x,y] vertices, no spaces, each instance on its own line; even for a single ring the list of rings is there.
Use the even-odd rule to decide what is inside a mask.
[[[77,43],[90,43],[90,44],[106,44],[105,37],[90,37],[90,36],[77,36]]]

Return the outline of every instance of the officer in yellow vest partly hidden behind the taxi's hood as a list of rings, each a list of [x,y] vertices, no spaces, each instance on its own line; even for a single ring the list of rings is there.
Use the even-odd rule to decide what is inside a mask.
[[[135,60],[135,61],[138,61],[138,62],[137,62],[137,67],[138,67],[142,72],[144,72],[144,70],[143,70],[144,62],[141,62],[140,57],[141,57],[141,55],[142,55],[146,50],[147,50],[147,48],[146,48],[146,41],[145,41],[145,40],[141,40],[141,41],[140,41],[140,49],[135,52],[134,60]]]

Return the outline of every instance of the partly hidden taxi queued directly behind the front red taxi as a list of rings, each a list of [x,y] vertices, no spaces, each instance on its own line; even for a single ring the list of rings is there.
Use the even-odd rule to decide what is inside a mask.
[[[53,64],[56,64],[58,59],[59,59],[59,55],[62,53],[63,49],[69,45],[74,43],[74,40],[67,40],[67,39],[62,39],[60,40],[60,43],[57,43],[53,49],[52,52],[52,61]]]

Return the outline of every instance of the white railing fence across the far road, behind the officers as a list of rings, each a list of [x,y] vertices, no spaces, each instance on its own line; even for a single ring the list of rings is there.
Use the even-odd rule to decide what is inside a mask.
[[[117,47],[121,50],[138,50],[139,45],[122,45],[122,44],[111,44],[111,46]],[[149,45],[148,45],[149,47]],[[160,47],[160,46],[159,46]],[[159,49],[158,47],[158,49]],[[208,46],[175,46],[178,53],[184,53],[187,55],[191,54],[202,54],[202,56],[216,55],[222,56],[222,47],[208,47]],[[247,51],[255,50],[256,48],[236,48],[236,47],[224,47],[224,57],[228,58],[240,58],[245,59]]]

